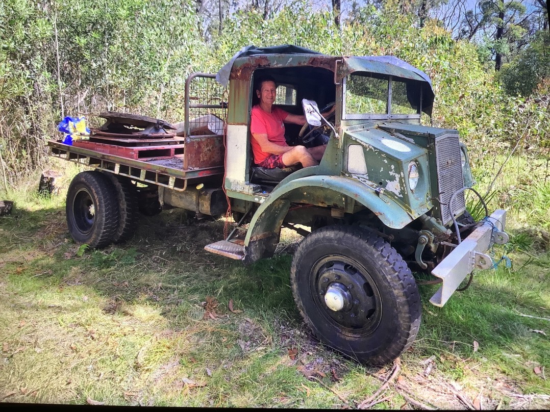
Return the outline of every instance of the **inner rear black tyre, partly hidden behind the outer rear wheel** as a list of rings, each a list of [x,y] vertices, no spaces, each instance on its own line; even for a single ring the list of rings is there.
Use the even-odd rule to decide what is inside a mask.
[[[138,226],[138,195],[128,177],[117,176],[110,172],[102,173],[113,183],[117,191],[119,224],[113,236],[113,242],[123,243],[134,236]]]

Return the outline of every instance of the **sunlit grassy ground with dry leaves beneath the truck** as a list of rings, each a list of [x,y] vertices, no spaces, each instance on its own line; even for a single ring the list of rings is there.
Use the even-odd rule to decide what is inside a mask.
[[[401,357],[399,386],[373,409],[412,408],[404,396],[465,408],[450,388],[487,409],[549,405],[514,394],[550,394],[550,321],[522,316],[550,318],[550,182],[533,191],[540,177],[522,181],[509,166],[489,208],[510,208],[511,240],[495,254],[507,253],[512,267],[480,272],[443,308],[428,301],[437,286],[420,286],[419,336]],[[490,176],[477,170],[486,188]],[[290,291],[285,252],[300,239],[292,231],[282,253],[243,266],[203,249],[223,237],[223,219],[197,222],[174,209],[142,218],[127,244],[83,250],[67,232],[67,186],[51,199],[32,195],[32,184],[2,195],[16,202],[0,218],[4,402],[354,408],[389,377],[391,365],[356,364],[309,335]],[[218,304],[214,319],[207,297]]]

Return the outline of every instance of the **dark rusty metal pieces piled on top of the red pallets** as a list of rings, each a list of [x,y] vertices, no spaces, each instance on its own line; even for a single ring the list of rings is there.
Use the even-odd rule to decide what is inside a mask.
[[[131,113],[102,112],[99,117],[106,123],[92,129],[92,136],[110,137],[174,137],[176,128],[165,120]]]

